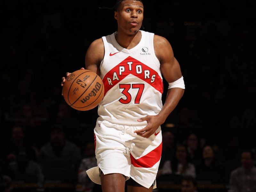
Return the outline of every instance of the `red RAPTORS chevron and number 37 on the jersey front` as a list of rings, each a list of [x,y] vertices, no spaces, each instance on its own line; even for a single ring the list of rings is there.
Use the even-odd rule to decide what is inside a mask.
[[[120,89],[124,97],[119,99],[119,101],[123,104],[130,102],[140,104],[141,97],[147,86],[161,94],[163,93],[161,74],[158,74],[156,70],[130,56],[110,69],[102,81],[104,83],[105,95],[114,87]],[[131,93],[136,95],[131,95]]]

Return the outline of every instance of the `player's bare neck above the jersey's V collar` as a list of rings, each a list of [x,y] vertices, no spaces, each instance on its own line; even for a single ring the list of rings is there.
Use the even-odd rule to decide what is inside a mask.
[[[132,49],[137,44],[140,43],[141,39],[141,32],[137,31],[134,35],[127,35],[125,33],[122,33],[118,31],[115,35],[116,42],[126,49]]]

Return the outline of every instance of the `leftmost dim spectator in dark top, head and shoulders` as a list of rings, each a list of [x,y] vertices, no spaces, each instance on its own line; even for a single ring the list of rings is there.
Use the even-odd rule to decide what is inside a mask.
[[[25,133],[21,126],[12,127],[11,142],[2,151],[6,163],[16,160],[20,152],[25,152],[29,160],[37,161],[36,148],[29,146],[25,142]]]

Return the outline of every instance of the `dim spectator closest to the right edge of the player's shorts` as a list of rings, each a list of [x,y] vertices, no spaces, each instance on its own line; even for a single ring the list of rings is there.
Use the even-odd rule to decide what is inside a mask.
[[[172,134],[172,132],[163,132],[162,137],[163,147],[159,169],[162,169],[164,162],[167,160],[171,160],[175,153],[174,135]]]

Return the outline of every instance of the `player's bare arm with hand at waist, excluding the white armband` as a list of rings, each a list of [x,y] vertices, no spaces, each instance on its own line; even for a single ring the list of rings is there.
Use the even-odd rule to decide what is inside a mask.
[[[171,44],[164,37],[155,35],[154,49],[156,57],[160,61],[160,70],[164,76],[164,79],[171,84],[179,79],[182,79],[180,65],[174,58]],[[150,137],[150,135],[152,135],[156,129],[165,122],[172,110],[177,106],[183,93],[184,89],[182,88],[175,87],[168,89],[162,110],[156,116],[146,116],[144,118],[140,118],[138,120],[139,122],[147,121],[148,125],[144,129],[135,131],[135,133],[142,137]]]

